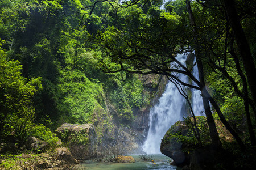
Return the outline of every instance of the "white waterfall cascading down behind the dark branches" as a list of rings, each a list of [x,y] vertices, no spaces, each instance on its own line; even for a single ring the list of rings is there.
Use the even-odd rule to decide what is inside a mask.
[[[181,63],[184,63],[187,55],[179,54],[176,57]],[[193,69],[193,74],[198,79],[197,67]],[[187,76],[182,74],[177,76],[183,82],[188,82]],[[159,103],[150,110],[150,128],[147,139],[142,146],[142,150],[146,154],[161,154],[160,143],[166,131],[175,122],[183,120],[183,117],[187,116],[185,103],[184,97],[179,94],[176,86],[168,82]],[[203,101],[199,90],[192,90],[192,108],[196,116],[203,114]]]

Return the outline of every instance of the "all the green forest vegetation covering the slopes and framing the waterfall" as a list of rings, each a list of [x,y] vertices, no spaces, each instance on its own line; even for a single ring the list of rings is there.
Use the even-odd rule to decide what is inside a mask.
[[[110,136],[115,125],[143,121],[138,110],[159,77],[148,90],[142,75],[158,74],[202,92],[212,145],[222,147],[217,119],[242,149],[254,147],[255,8],[253,0],[1,1],[0,138],[54,143],[50,130],[64,122],[92,123],[102,137],[108,126]],[[195,52],[200,80],[176,60],[182,52]]]

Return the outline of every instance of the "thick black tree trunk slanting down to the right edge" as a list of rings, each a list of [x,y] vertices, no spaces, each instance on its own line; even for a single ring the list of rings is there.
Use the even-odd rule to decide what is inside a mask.
[[[242,57],[243,66],[247,76],[248,84],[250,87],[251,95],[253,96],[254,106],[256,106],[256,84],[254,83],[256,76],[256,69],[254,59],[251,56],[250,46],[246,40],[245,32],[243,32],[242,25],[238,18],[237,10],[234,0],[224,0],[226,15],[228,16],[229,24],[234,33],[238,50]]]

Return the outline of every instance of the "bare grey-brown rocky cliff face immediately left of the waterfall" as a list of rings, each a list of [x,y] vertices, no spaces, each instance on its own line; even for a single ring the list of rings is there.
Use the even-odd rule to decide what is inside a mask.
[[[134,119],[129,126],[122,125],[118,121],[118,117],[113,105],[106,102],[107,112],[105,118],[102,118],[102,112],[97,112],[97,121],[94,122],[98,134],[98,145],[118,146],[125,153],[138,153],[146,138],[148,130],[148,117],[150,108],[156,104],[159,97],[163,94],[168,80],[160,75],[139,75],[139,79],[143,83],[143,96],[146,97],[146,104],[141,108],[133,108]],[[105,121],[108,119],[108,121]]]

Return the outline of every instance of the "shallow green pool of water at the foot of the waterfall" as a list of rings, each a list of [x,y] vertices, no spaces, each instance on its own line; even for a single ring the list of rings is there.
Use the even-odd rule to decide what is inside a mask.
[[[135,163],[106,163],[106,162],[93,162],[92,160],[86,161],[82,164],[84,169],[92,170],[147,170],[147,169],[176,169],[177,167],[170,165],[171,159],[164,155],[154,155],[154,163],[146,162],[139,159],[139,155],[129,155],[133,156],[136,160]]]

